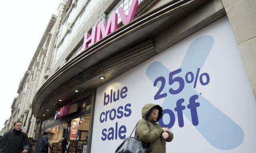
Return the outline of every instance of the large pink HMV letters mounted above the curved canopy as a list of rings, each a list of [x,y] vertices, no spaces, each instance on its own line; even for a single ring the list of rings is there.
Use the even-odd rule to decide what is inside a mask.
[[[138,0],[133,0],[132,4],[130,6],[128,15],[126,16],[124,9],[122,7],[118,8],[118,12],[120,14],[122,23],[124,25],[128,24],[129,22],[131,22],[134,18],[135,12],[137,10],[138,7]],[[89,44],[94,44],[97,41],[99,41],[100,39],[102,39],[102,37],[106,37],[108,34],[114,32],[117,29],[117,23],[118,18],[117,18],[117,14],[116,12],[112,12],[109,19],[108,19],[108,24],[106,26],[104,21],[100,21],[99,24],[97,26],[93,26],[92,27],[92,33],[91,35],[86,32],[84,35],[84,43],[83,43],[83,48],[82,50],[84,51],[85,49],[87,49],[89,47]]]

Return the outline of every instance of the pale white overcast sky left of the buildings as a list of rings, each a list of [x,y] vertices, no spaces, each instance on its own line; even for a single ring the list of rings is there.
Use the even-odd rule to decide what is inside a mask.
[[[52,14],[63,0],[3,0],[0,9],[0,130],[11,115],[20,80]]]

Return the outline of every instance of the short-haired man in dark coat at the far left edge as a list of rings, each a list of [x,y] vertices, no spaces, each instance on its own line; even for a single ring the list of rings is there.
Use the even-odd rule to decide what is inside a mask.
[[[1,153],[28,153],[28,136],[21,131],[22,122],[14,122],[13,130],[0,139]]]

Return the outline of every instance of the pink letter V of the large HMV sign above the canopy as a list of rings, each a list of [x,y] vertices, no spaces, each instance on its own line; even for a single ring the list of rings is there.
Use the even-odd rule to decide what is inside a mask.
[[[137,10],[139,1],[138,0],[133,0],[132,4],[130,6],[130,10],[128,12],[128,15],[126,16],[124,9],[123,8],[118,8],[118,12],[120,14],[120,17],[122,19],[122,22],[124,25],[128,24],[129,22],[131,22],[134,18],[135,12]]]

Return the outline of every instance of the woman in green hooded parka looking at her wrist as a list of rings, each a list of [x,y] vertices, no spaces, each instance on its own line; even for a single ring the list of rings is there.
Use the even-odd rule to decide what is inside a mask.
[[[166,153],[166,141],[173,139],[168,128],[162,128],[158,122],[162,117],[162,107],[156,104],[146,104],[142,108],[142,119],[136,128],[136,137],[150,145],[152,153]]]

